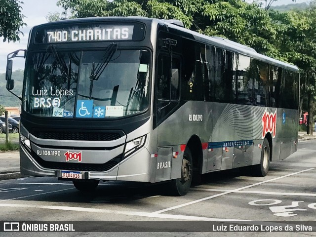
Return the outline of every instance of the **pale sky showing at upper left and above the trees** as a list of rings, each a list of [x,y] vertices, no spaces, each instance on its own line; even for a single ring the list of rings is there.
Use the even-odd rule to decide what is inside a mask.
[[[252,0],[248,0],[251,2]],[[296,0],[296,3],[309,2],[310,0]],[[295,3],[292,0],[277,0],[273,5],[283,5]],[[6,57],[7,54],[18,49],[26,49],[29,32],[33,26],[47,23],[45,16],[49,12],[62,12],[61,7],[57,7],[57,0],[24,0],[22,4],[22,14],[25,15],[23,21],[27,24],[21,31],[24,36],[20,35],[20,42],[3,42],[3,38],[0,38],[0,73],[5,73]],[[13,71],[17,69],[23,69],[25,64],[24,58],[13,59]]]

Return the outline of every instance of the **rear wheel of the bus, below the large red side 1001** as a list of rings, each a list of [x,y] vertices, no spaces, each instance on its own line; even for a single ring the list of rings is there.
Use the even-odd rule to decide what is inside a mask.
[[[269,171],[270,158],[271,158],[270,145],[269,145],[268,139],[265,138],[262,143],[260,164],[254,165],[253,175],[259,176],[259,177],[266,176]]]

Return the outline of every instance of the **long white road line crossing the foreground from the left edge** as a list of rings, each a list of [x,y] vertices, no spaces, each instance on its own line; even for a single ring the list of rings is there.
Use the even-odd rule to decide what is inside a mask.
[[[202,216],[185,216],[185,215],[171,215],[171,214],[158,214],[150,212],[138,212],[138,211],[116,211],[98,208],[76,207],[76,206],[52,206],[52,205],[30,205],[30,204],[12,204],[12,203],[0,203],[1,207],[18,207],[18,208],[41,208],[51,210],[64,210],[64,211],[82,211],[82,212],[95,212],[95,213],[111,213],[120,215],[131,215],[141,217],[153,217],[163,219],[176,219],[176,220],[190,220],[190,221],[251,221],[251,220],[238,220],[238,219],[223,219],[223,218],[209,218]]]

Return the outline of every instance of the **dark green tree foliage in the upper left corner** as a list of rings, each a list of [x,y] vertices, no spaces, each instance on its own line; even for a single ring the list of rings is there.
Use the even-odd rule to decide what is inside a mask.
[[[20,28],[26,24],[23,22],[20,4],[23,2],[19,0],[0,0],[0,37],[4,38],[3,42],[15,42],[20,40],[20,34],[24,35]]]

